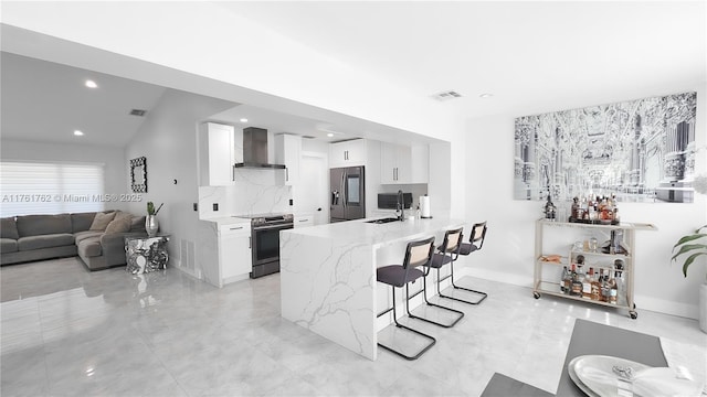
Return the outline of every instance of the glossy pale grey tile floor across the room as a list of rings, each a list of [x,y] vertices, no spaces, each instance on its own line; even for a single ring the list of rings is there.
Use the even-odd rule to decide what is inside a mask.
[[[360,357],[279,316],[279,277],[213,288],[178,270],[89,272],[77,258],[7,266],[2,396],[478,396],[499,372],[555,393],[574,319],[707,345],[695,320],[624,311],[471,277],[487,291],[414,362]],[[447,303],[447,301],[445,301]],[[640,304],[640,302],[639,302]],[[421,309],[422,310],[422,309]]]

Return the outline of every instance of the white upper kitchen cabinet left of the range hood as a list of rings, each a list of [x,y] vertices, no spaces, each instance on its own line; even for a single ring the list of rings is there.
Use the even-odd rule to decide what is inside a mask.
[[[199,129],[199,185],[233,184],[236,162],[233,126],[204,122]],[[242,153],[241,153],[242,155]]]

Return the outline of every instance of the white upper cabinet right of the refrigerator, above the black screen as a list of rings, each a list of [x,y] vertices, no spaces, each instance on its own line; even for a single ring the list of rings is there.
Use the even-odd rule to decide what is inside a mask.
[[[428,147],[381,142],[380,165],[382,184],[428,183]]]

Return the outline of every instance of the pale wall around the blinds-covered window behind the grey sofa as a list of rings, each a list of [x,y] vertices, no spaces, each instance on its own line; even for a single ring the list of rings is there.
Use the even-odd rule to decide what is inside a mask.
[[[78,140],[80,138],[77,138]],[[129,165],[123,148],[62,143],[45,143],[2,139],[2,160],[66,161],[104,164],[104,189],[106,194],[130,193],[128,189]],[[106,210],[127,210],[127,203],[105,203]]]

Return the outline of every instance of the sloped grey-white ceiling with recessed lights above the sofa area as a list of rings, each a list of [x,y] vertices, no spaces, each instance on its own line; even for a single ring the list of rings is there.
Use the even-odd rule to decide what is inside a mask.
[[[124,147],[163,87],[1,53],[2,138]],[[87,88],[86,79],[97,88]],[[130,110],[148,110],[145,117]],[[84,132],[75,137],[74,130]]]

